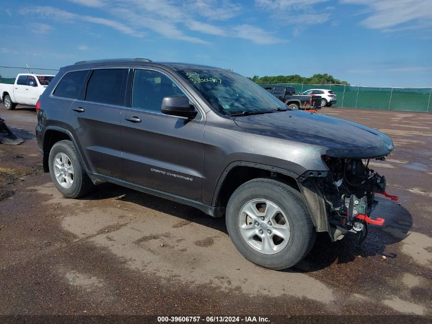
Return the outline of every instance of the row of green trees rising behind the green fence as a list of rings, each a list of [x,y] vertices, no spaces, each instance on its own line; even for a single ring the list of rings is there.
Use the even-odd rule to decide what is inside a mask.
[[[346,84],[347,81],[341,81],[335,79],[332,75],[325,74],[314,74],[311,77],[304,77],[298,74],[293,75],[278,75],[278,76],[262,76],[254,75],[249,78],[255,83],[305,83],[305,84]]]

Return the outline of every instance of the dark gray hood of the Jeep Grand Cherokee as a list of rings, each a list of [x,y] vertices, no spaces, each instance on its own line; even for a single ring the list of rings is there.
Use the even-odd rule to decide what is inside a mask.
[[[376,158],[393,150],[390,137],[376,129],[305,111],[240,116],[234,121],[248,131],[323,147],[326,155],[336,158]]]

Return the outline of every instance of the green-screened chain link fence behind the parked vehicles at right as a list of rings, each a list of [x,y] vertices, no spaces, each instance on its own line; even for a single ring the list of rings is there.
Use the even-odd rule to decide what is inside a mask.
[[[279,83],[261,87],[294,87],[296,93],[309,89],[332,90],[337,95],[334,107],[374,110],[432,112],[432,88],[360,87],[343,84]]]

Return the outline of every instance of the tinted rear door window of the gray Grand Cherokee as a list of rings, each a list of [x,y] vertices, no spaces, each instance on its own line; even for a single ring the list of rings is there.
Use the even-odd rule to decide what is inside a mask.
[[[94,70],[87,83],[85,100],[120,105],[124,69]]]

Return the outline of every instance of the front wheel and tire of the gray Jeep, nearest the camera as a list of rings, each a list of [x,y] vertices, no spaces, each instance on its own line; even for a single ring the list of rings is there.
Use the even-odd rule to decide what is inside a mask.
[[[274,179],[254,179],[238,187],[225,217],[237,250],[265,268],[294,266],[315,242],[315,229],[302,196]]]

